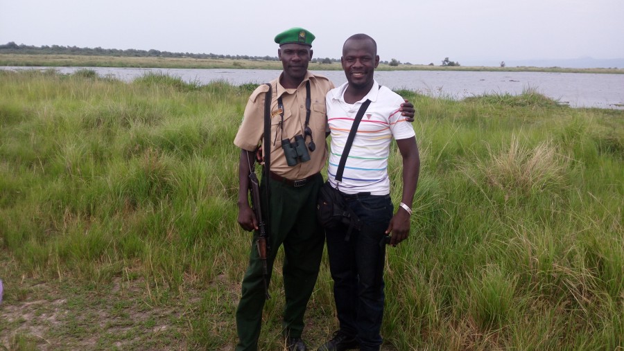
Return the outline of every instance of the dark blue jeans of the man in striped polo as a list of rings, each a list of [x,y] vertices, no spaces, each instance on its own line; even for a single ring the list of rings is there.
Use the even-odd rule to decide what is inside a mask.
[[[362,194],[362,193],[360,193]],[[329,269],[340,331],[356,336],[361,350],[379,350],[383,318],[385,229],[392,218],[390,195],[347,195],[363,222],[345,240],[347,227],[326,229]]]

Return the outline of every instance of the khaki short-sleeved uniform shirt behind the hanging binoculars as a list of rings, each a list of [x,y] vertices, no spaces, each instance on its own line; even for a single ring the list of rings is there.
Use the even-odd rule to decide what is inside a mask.
[[[280,75],[281,76],[281,75]],[[311,152],[310,161],[299,162],[293,167],[286,163],[284,150],[281,148],[281,139],[288,138],[291,143],[295,141],[295,135],[304,134],[306,123],[306,82],[310,81],[310,122],[312,136],[316,145],[316,150]],[[333,89],[333,83],[322,75],[313,75],[310,71],[306,73],[303,82],[297,89],[284,89],[279,84],[279,78],[270,82],[272,87],[271,99],[271,143],[262,145],[263,153],[267,150],[271,152],[271,172],[279,174],[281,177],[295,180],[310,177],[322,170],[327,161],[327,143],[325,142],[325,132],[327,131],[327,114],[325,109],[325,95]],[[259,144],[264,143],[264,100],[268,87],[262,84],[251,94],[243,123],[239,127],[239,132],[234,138],[234,145],[243,150],[256,150]],[[277,98],[281,96],[284,102],[284,123],[277,107]],[[306,145],[310,143],[310,138],[306,138]]]

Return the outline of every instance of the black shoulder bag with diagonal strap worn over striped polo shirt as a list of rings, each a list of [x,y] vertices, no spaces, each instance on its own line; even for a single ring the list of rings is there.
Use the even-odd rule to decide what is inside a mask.
[[[358,131],[358,125],[364,116],[364,112],[370,105],[370,100],[363,102],[362,106],[358,110],[349,136],[347,137],[347,143],[345,144],[345,150],[343,150],[343,156],[340,156],[340,163],[338,163],[338,170],[336,171],[336,181],[343,180],[343,172],[345,170],[345,163],[347,163],[347,156],[351,151],[351,145],[355,134]],[[343,224],[348,226],[347,235],[345,241],[349,241],[349,237],[353,229],[358,231],[362,228],[362,222],[358,216],[347,206],[347,201],[343,198],[343,195],[331,186],[329,181],[326,181],[320,189],[317,200],[317,217],[318,222],[323,228],[336,228]]]

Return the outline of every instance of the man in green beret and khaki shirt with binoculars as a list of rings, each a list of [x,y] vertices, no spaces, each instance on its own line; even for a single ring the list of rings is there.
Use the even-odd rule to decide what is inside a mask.
[[[291,28],[275,37],[279,44],[277,57],[284,70],[270,82],[270,143],[266,145],[264,138],[269,90],[266,84],[251,94],[234,139],[234,144],[241,148],[237,221],[245,231],[254,231],[236,309],[237,351],[258,349],[266,300],[263,261],[255,248],[259,223],[248,201],[249,175],[259,145],[263,159],[270,154],[270,175],[262,178],[260,186],[262,217],[269,223],[268,279],[279,246],[284,246],[284,344],[288,350],[308,350],[302,341],[304,312],[318,276],[324,244],[324,232],[316,219],[316,199],[323,183],[320,172],[328,157],[325,95],[334,87],[327,78],[308,71],[314,39],[303,28]],[[404,104],[401,111],[408,118],[414,116],[410,103]],[[315,147],[314,141],[319,147]]]

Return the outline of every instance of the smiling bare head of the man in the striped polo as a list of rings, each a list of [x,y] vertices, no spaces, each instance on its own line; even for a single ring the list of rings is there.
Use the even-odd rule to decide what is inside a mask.
[[[340,57],[349,87],[358,91],[370,91],[374,71],[379,64],[377,46],[371,37],[354,35],[343,46]]]

